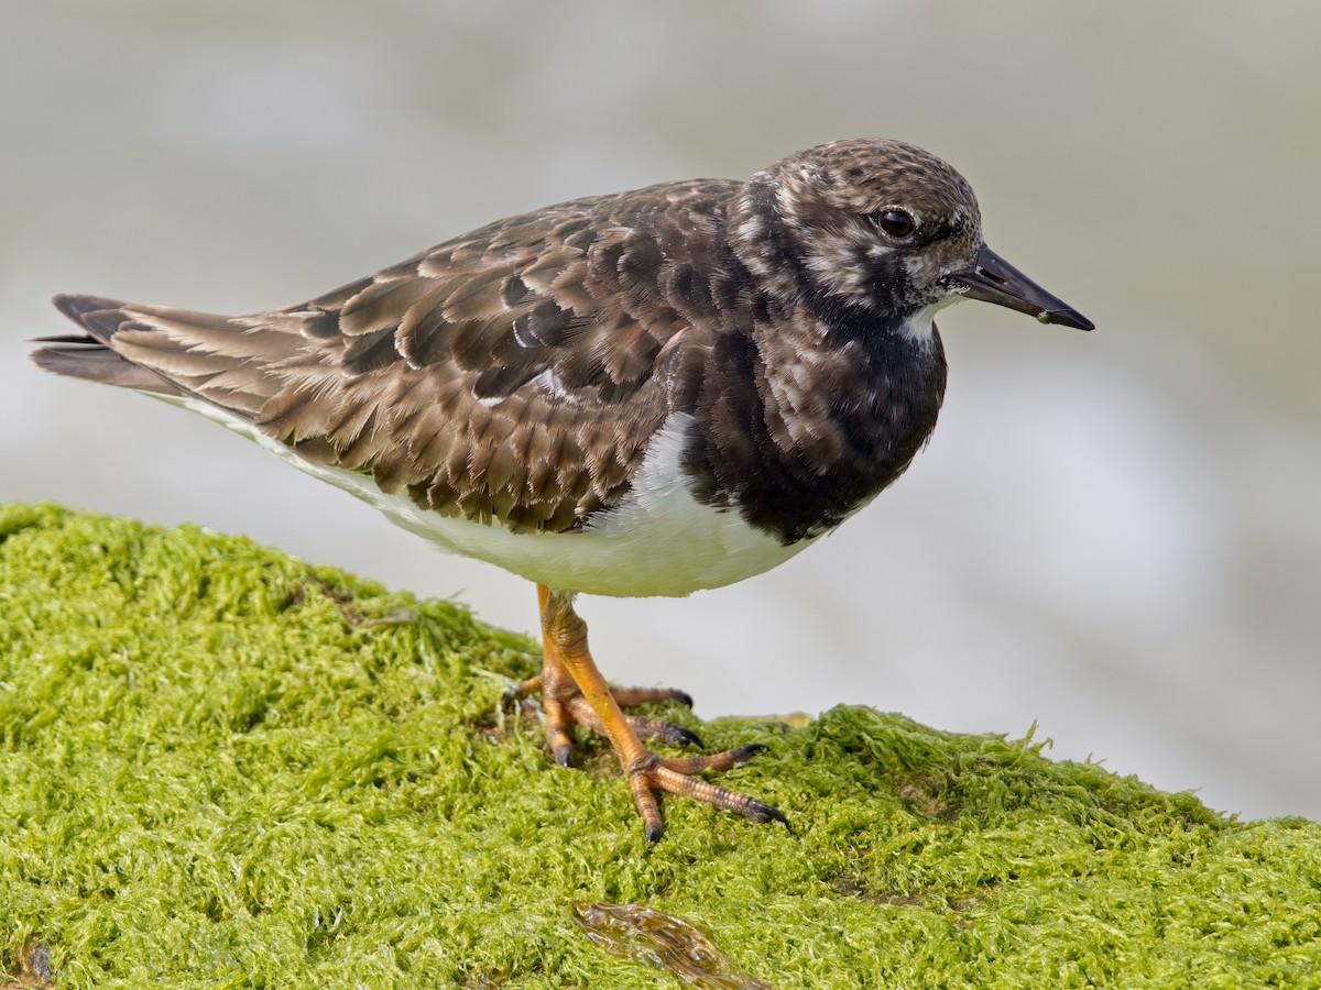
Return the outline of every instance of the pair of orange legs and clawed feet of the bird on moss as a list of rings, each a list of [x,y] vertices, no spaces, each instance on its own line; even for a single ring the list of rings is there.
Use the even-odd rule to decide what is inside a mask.
[[[542,609],[542,643],[544,667],[540,677],[520,685],[522,690],[542,692],[546,710],[546,741],[555,760],[567,766],[572,755],[568,725],[577,722],[610,741],[624,775],[633,791],[633,803],[642,814],[647,840],[655,842],[664,832],[658,791],[692,797],[717,808],[737,812],[752,821],[781,821],[785,816],[754,797],[709,784],[692,776],[703,771],[724,771],[748,760],[764,748],[760,744],[740,746],[705,756],[663,759],[642,744],[643,738],[659,738],[672,743],[701,744],[687,729],[653,718],[625,715],[621,704],[679,700],[691,704],[683,692],[649,690],[634,688],[610,689],[587,647],[587,623],[573,611],[572,598],[536,586]]]

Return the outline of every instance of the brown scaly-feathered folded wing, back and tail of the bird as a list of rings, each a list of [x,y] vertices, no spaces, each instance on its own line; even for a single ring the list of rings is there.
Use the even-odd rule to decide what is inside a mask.
[[[672,183],[510,218],[275,313],[62,297],[100,346],[36,356],[114,380],[108,347],[137,368],[118,383],[199,396],[423,507],[563,531],[625,495],[683,404],[720,329],[715,296],[732,292],[708,273],[728,271],[736,189]]]

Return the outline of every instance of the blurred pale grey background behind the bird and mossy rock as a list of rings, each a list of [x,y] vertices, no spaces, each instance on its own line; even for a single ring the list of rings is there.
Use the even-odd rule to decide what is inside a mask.
[[[584,599],[703,715],[861,702],[1321,818],[1321,5],[0,3],[0,500],[248,533],[535,628],[526,582],[137,395],[54,292],[243,313],[485,220],[894,136],[1091,317],[942,314],[913,470],[789,565]]]

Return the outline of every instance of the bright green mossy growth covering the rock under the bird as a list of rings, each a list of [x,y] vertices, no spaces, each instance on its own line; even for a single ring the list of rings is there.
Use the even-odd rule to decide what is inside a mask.
[[[728,779],[793,833],[670,800],[647,846],[600,748],[559,770],[501,713],[536,668],[247,540],[0,507],[0,973],[678,986],[593,945],[572,906],[604,902],[778,987],[1321,986],[1317,825],[838,708],[701,726],[770,747]]]

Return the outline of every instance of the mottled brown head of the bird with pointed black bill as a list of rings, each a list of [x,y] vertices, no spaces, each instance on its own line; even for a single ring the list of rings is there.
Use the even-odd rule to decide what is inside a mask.
[[[963,176],[902,141],[832,141],[758,172],[733,206],[731,238],[771,293],[869,310],[913,335],[959,298],[1092,329],[987,247]]]

